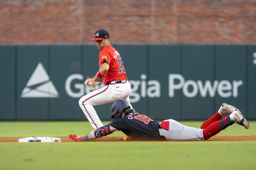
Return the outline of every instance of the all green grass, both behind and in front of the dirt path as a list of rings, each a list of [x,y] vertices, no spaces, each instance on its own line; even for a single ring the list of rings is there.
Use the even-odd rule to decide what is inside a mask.
[[[180,123],[199,128],[202,122]],[[82,136],[91,130],[88,122],[0,122],[0,137]],[[256,122],[218,135],[256,135]],[[256,141],[4,142],[0,153],[0,169],[254,169]]]

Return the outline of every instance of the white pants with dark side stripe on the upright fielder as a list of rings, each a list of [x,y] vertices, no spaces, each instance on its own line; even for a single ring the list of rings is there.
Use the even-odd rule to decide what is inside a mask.
[[[125,83],[106,85],[98,90],[86,94],[79,100],[79,106],[94,129],[98,129],[103,126],[103,124],[93,106],[111,103],[119,99],[124,99],[130,104],[129,95],[132,92],[131,85],[128,81],[123,80],[123,82]],[[111,114],[109,112],[109,117],[110,116]]]

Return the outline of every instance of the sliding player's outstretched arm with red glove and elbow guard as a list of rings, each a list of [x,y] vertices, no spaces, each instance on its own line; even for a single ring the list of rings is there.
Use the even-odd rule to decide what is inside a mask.
[[[92,130],[91,133],[89,133],[84,137],[78,137],[76,135],[70,134],[69,138],[75,140],[76,142],[82,142],[82,141],[85,142],[85,141],[93,140],[99,137],[107,136],[113,133],[114,131],[116,131],[116,129],[112,128],[110,124],[107,124],[105,126],[101,126],[98,129]]]

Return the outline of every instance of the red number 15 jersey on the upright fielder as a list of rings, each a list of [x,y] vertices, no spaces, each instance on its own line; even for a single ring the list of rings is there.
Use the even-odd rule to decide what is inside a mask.
[[[99,65],[103,62],[109,65],[108,72],[103,76],[103,84],[110,81],[124,80],[127,78],[120,54],[111,45],[100,50]]]

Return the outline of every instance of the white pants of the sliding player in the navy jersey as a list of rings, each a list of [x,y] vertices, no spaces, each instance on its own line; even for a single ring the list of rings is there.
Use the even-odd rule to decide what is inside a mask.
[[[161,136],[170,141],[204,141],[203,129],[197,129],[180,124],[169,119],[169,130],[159,129]]]

